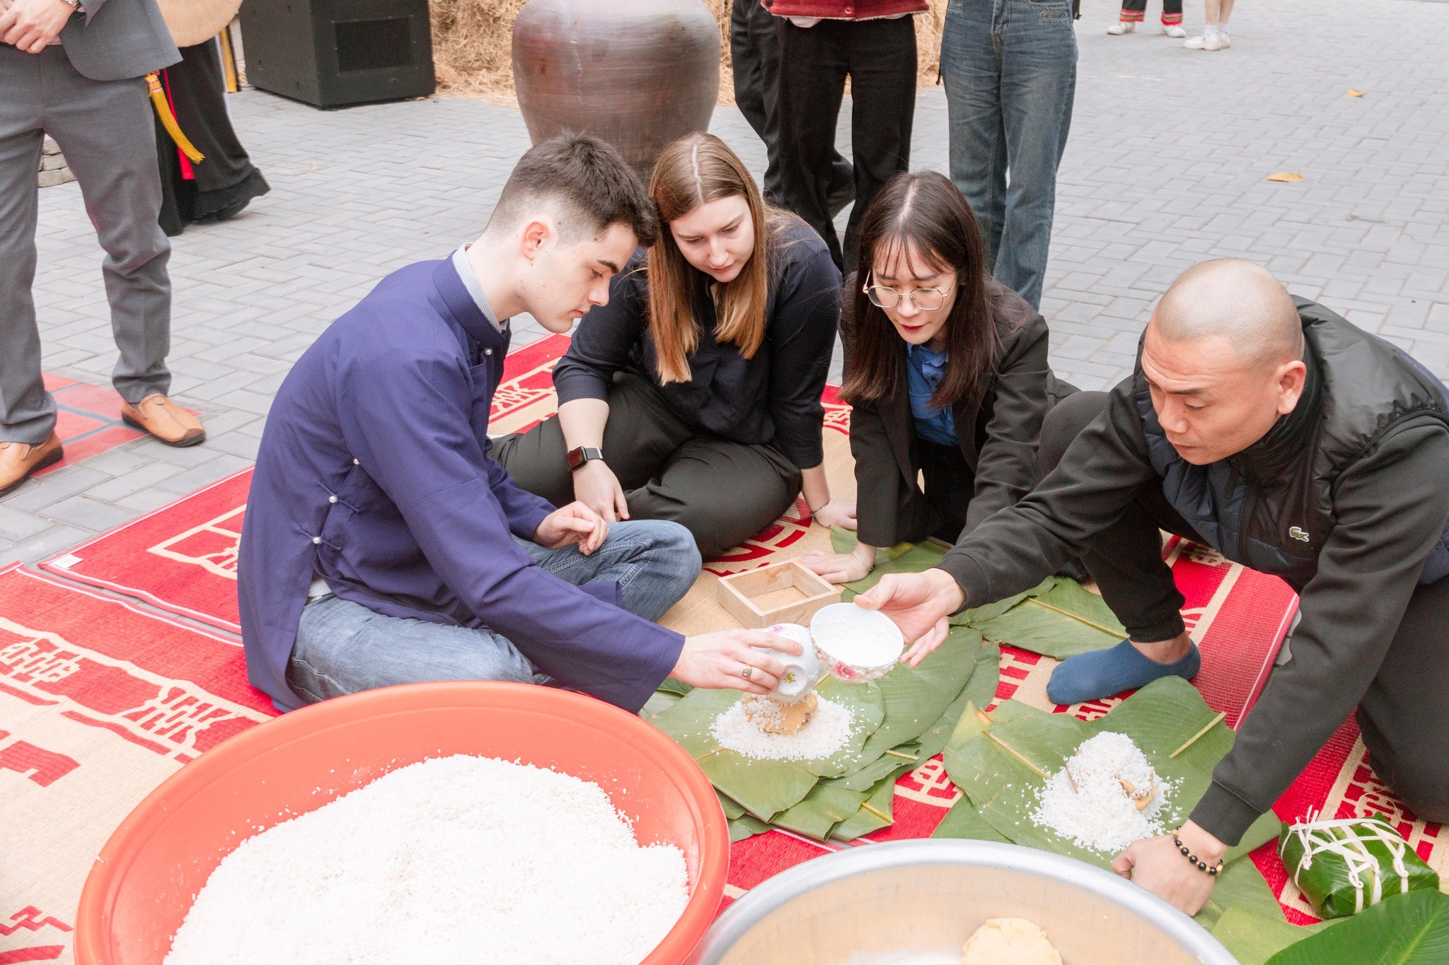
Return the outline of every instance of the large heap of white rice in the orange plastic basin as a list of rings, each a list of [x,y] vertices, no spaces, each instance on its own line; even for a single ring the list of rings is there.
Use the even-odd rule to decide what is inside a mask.
[[[636,965],[687,901],[597,784],[455,755],[243,841],[165,965]]]

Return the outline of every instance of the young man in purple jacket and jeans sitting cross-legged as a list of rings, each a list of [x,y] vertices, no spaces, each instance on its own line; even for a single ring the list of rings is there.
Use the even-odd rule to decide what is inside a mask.
[[[303,353],[267,418],[238,590],[251,681],[283,710],[427,680],[558,681],[629,710],[674,676],[765,693],[759,631],[652,621],[700,571],[672,522],[554,509],[490,454],[509,318],[568,331],[658,221],[603,142],[519,161],[483,236],[383,279]]]

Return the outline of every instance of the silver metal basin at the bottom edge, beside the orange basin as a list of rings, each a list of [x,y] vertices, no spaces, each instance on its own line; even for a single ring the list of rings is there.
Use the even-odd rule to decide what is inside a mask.
[[[1035,848],[862,845],[775,875],[730,906],[690,965],[959,965],[987,919],[1039,924],[1065,965],[1236,965],[1162,898]],[[1011,964],[1003,964],[1011,965]]]

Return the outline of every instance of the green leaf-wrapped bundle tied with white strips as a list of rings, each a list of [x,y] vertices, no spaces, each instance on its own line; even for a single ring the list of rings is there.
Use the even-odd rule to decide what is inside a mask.
[[[1439,874],[1382,817],[1284,822],[1278,856],[1319,916],[1358,914],[1391,894],[1437,890]]]

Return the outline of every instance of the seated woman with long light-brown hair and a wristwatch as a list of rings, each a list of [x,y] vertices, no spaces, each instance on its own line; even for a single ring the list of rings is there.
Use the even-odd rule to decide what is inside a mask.
[[[680,522],[706,558],[801,489],[819,522],[848,522],[820,438],[840,298],[824,242],[713,135],[667,146],[649,194],[659,240],[580,321],[554,369],[558,418],[500,440],[498,463],[559,506]]]

